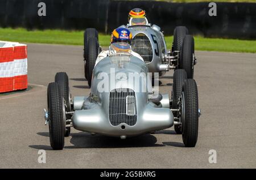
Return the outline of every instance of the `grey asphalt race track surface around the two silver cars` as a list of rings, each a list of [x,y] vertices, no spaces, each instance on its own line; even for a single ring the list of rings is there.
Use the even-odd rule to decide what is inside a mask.
[[[173,128],[121,140],[72,128],[63,151],[52,151],[43,109],[56,72],[72,95],[88,95],[81,46],[28,44],[29,91],[0,94],[0,168],[256,168],[256,54],[196,52],[199,138],[185,148]],[[160,79],[170,93],[172,71]],[[39,149],[46,164],[38,163]],[[208,161],[209,150],[217,163]]]

